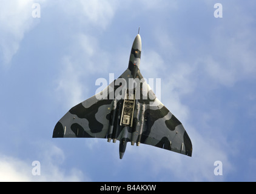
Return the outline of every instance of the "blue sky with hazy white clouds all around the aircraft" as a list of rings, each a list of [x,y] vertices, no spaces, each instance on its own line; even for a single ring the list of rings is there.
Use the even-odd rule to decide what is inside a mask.
[[[0,0],[0,181],[256,181],[255,6]],[[96,79],[126,70],[139,26],[141,73],[161,78],[161,102],[183,123],[192,158],[127,144],[120,160],[106,139],[52,139],[56,122],[95,95]]]

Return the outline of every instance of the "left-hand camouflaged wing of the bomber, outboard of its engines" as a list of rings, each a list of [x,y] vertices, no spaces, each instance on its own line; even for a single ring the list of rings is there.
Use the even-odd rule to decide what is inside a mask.
[[[55,125],[53,138],[106,138],[112,101],[95,95],[76,105]]]

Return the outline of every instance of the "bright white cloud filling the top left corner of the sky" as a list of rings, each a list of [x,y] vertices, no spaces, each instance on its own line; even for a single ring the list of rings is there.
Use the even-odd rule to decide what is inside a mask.
[[[38,20],[32,17],[33,1],[2,0],[0,7],[0,60],[9,64],[19,44]]]

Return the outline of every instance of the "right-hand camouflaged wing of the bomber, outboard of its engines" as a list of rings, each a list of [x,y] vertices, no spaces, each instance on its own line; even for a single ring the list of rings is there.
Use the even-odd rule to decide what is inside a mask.
[[[186,130],[164,105],[155,110],[146,109],[144,119],[141,143],[192,156],[192,143]]]

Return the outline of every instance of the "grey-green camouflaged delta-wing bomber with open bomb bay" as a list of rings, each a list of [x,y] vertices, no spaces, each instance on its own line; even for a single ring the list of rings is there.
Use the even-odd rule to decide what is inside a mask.
[[[55,125],[53,138],[106,138],[148,144],[192,156],[192,143],[181,122],[155,96],[140,72],[141,36],[136,35],[126,71],[106,89],[75,105]]]

